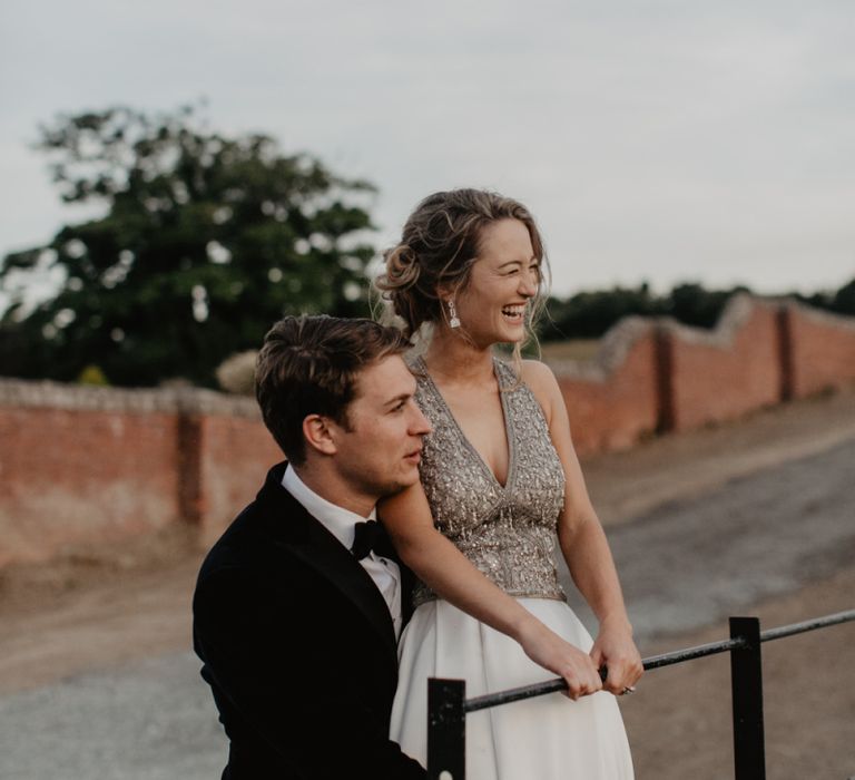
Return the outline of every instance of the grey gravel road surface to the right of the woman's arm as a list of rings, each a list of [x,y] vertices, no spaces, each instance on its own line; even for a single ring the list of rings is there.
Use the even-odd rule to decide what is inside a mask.
[[[854,488],[851,440],[612,529],[639,642],[708,625],[851,564]]]

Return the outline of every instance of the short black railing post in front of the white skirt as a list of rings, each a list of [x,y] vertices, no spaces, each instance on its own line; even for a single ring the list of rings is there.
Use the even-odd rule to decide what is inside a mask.
[[[464,780],[466,721],[465,680],[428,681],[428,777]]]

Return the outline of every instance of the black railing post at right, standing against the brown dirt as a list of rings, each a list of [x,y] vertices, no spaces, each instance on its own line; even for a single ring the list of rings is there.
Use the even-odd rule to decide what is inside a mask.
[[[765,780],[759,620],[731,617],[730,638],[741,640],[739,646],[730,651],[735,777],[736,780]]]

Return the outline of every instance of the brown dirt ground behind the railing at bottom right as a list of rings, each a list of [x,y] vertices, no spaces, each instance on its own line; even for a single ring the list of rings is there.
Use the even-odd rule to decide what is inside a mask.
[[[855,565],[745,614],[765,628],[855,608]],[[658,640],[645,656],[729,636],[726,622]],[[763,645],[766,777],[855,777],[855,623]],[[639,780],[733,778],[727,654],[652,670],[620,700]]]

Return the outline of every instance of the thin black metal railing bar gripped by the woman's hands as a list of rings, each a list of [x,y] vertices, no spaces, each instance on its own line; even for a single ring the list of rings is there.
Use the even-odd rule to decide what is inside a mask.
[[[833,615],[817,617],[812,621],[805,621],[803,623],[794,623],[792,625],[785,625],[778,628],[769,628],[768,631],[764,631],[760,634],[760,641],[770,642],[772,640],[779,640],[785,636],[792,636],[794,634],[813,631],[815,628],[823,628],[825,626],[836,625],[838,623],[847,623],[848,621],[855,621],[855,610],[847,610],[845,612],[838,612]],[[731,650],[744,647],[745,644],[746,643],[744,638],[710,642],[709,644],[702,644],[696,647],[687,647],[685,650],[678,650],[672,653],[651,655],[645,659],[642,663],[645,669],[648,671],[651,669],[661,669],[662,666],[671,666],[672,664],[682,663],[684,661],[691,661],[694,659],[701,659],[707,655],[727,653]],[[520,701],[522,699],[532,699],[534,696],[546,695],[547,693],[563,691],[566,688],[567,685],[564,684],[564,681],[561,677],[556,677],[554,680],[548,680],[546,682],[535,683],[533,685],[511,688],[507,691],[500,691],[499,693],[488,693],[483,696],[466,699],[466,701],[463,702],[463,712],[475,712],[478,710],[485,710],[487,708],[497,706],[499,704],[510,704],[511,702]]]

